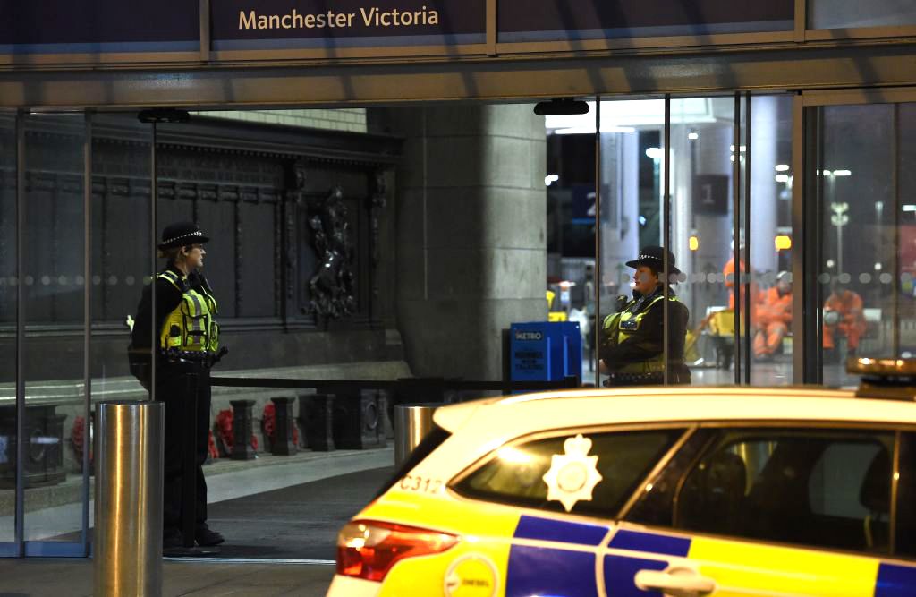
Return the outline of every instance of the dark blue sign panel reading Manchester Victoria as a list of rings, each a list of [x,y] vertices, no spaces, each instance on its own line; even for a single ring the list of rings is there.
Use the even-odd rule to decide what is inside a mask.
[[[219,0],[213,50],[484,43],[486,0]]]

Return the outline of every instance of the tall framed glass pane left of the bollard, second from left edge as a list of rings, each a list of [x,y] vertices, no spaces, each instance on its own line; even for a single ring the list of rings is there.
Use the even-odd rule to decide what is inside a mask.
[[[26,450],[25,539],[75,541],[84,486],[71,446],[86,400],[84,285],[94,282],[83,277],[85,119],[23,119],[26,224],[19,233],[30,250],[23,279],[27,443],[18,445]],[[54,352],[63,358],[51,363],[47,355]]]

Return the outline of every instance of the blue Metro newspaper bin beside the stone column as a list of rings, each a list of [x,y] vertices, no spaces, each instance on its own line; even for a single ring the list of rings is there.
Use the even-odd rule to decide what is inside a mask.
[[[561,381],[582,375],[582,335],[572,321],[509,326],[511,381]]]

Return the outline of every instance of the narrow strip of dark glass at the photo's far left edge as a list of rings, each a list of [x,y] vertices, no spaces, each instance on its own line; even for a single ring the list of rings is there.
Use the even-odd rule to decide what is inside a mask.
[[[16,115],[0,114],[0,543],[16,538]]]

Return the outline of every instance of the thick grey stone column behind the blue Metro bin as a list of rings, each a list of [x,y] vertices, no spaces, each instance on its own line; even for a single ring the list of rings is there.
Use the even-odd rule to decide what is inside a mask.
[[[398,327],[418,376],[496,380],[500,330],[545,320],[546,139],[530,105],[391,109]]]

